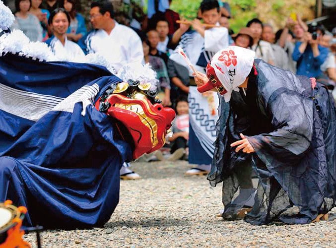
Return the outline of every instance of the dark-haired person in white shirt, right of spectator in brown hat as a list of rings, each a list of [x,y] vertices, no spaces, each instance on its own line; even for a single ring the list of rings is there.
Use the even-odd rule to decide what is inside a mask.
[[[255,59],[262,59],[263,61],[274,65],[274,54],[270,43],[261,40],[263,33],[262,21],[258,18],[254,18],[246,24],[246,27],[250,28],[253,34],[252,50],[256,52]]]

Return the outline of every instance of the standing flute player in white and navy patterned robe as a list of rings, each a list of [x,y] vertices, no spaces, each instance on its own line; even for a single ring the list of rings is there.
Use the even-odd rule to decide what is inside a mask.
[[[188,68],[190,76],[189,163],[197,166],[188,170],[187,175],[206,175],[210,171],[216,135],[214,127],[218,119],[218,98],[214,92],[207,92],[205,95],[197,92],[193,70],[180,56],[179,51],[183,49],[197,71],[205,72],[206,64],[212,56],[228,46],[228,30],[218,23],[220,18],[218,1],[203,0],[200,10],[204,23],[202,24],[199,19],[189,21],[188,25],[194,30],[182,35],[177,49],[170,56],[170,60]]]

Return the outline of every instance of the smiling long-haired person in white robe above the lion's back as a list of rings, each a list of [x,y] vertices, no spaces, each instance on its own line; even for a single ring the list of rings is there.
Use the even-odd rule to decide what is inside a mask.
[[[84,52],[76,43],[67,40],[69,13],[64,8],[56,8],[51,13],[48,24],[54,32],[54,37],[45,42],[55,56],[61,61],[82,62],[85,57]]]

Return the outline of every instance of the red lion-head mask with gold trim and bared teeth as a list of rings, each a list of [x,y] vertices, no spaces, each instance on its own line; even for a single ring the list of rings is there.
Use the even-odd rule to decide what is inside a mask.
[[[110,90],[112,94],[107,97],[103,95],[105,100],[99,99],[95,105],[97,110],[114,117],[127,128],[134,141],[133,159],[160,149],[166,142],[168,132],[171,132],[171,122],[175,118],[174,110],[155,103],[157,100],[149,88],[150,84],[122,82],[114,85],[114,89]],[[121,135],[125,137],[128,134]]]

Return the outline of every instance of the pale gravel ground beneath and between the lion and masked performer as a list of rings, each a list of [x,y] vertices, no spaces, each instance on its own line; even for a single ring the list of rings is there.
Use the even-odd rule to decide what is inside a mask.
[[[185,161],[134,163],[142,176],[122,181],[120,203],[104,228],[48,230],[42,247],[336,247],[336,209],[329,221],[254,226],[223,221],[221,185],[186,177]],[[36,247],[35,234],[25,240]]]

